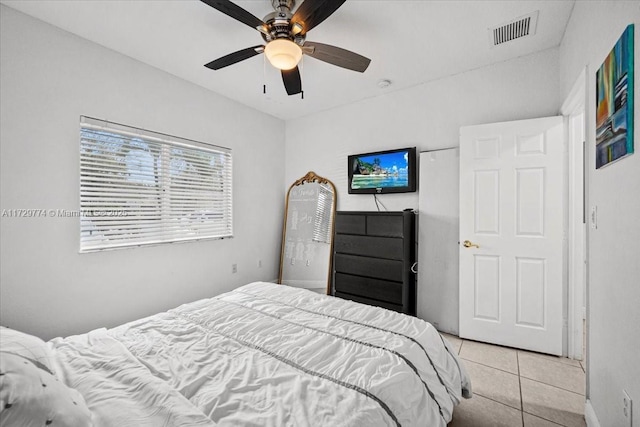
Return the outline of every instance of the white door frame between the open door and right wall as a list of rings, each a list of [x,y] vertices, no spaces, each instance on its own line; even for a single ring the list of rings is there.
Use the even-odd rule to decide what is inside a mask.
[[[583,321],[586,317],[585,291],[586,266],[586,212],[587,190],[585,175],[586,155],[586,68],[574,83],[569,95],[562,103],[560,113],[565,118],[567,141],[567,357],[582,360],[584,349]],[[578,123],[578,131],[574,127]]]

